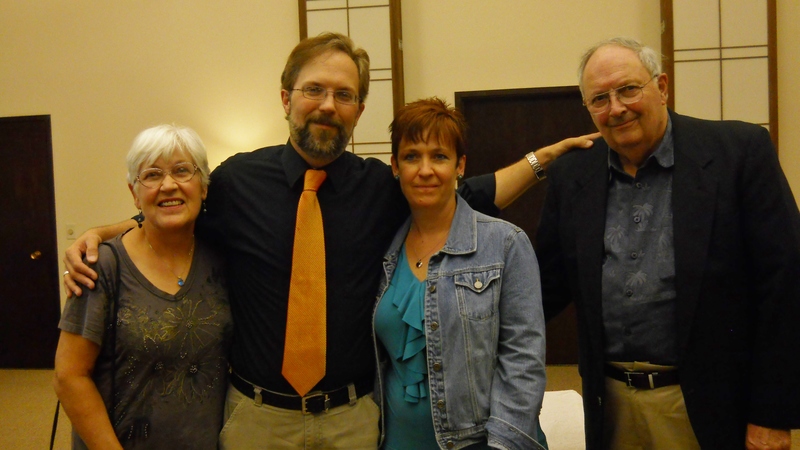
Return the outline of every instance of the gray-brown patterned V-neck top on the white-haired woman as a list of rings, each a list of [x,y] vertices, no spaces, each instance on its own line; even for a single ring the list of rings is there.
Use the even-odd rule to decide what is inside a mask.
[[[121,237],[109,241],[120,255],[116,352],[108,301],[116,262],[106,246],[97,287],[67,301],[59,328],[101,345],[93,378],[124,448],[216,448],[233,333],[221,259],[198,242],[186,283],[171,295],[139,272]],[[73,448],[86,448],[75,433]]]

